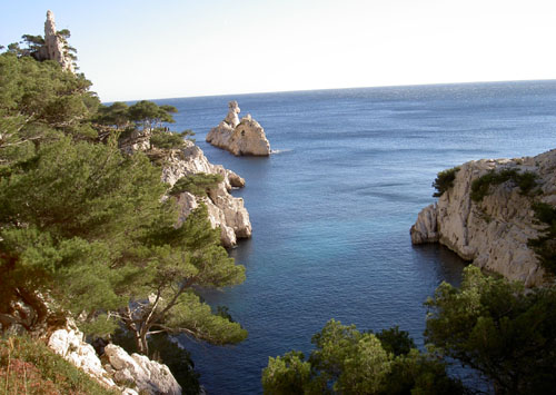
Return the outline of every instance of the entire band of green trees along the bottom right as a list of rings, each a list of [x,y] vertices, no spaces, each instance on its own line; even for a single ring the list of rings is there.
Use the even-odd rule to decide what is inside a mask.
[[[428,352],[397,327],[360,333],[330,320],[300,352],[269,358],[266,394],[458,394],[446,373],[448,356],[473,367],[496,394],[548,394],[556,386],[556,289],[465,269],[459,288],[443,283],[427,300]]]

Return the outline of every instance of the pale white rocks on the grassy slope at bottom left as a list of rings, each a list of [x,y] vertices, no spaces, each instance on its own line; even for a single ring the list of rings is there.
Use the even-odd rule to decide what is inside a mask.
[[[139,354],[129,355],[123,348],[109,344],[102,361],[95,348],[83,340],[83,334],[68,322],[50,335],[48,346],[107,387],[117,387],[125,395],[181,394],[181,387],[168,366]],[[129,388],[133,383],[135,387]]]

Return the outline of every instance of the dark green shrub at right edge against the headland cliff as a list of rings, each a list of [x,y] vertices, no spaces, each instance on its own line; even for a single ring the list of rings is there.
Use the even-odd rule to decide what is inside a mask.
[[[556,207],[535,203],[533,210],[537,221],[545,225],[545,229],[539,237],[529,239],[527,246],[536,253],[545,270],[556,275]]]

